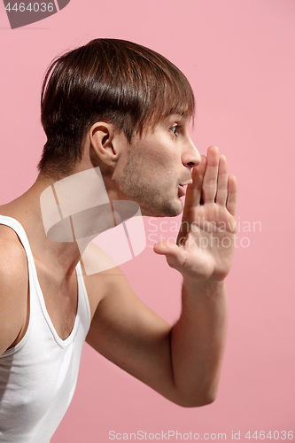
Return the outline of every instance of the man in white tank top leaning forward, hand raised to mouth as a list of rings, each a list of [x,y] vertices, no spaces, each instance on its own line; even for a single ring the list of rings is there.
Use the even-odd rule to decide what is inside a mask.
[[[25,194],[0,206],[4,441],[50,440],[73,396],[86,335],[97,352],[182,407],[215,399],[237,182],[215,146],[199,155],[188,132],[193,113],[185,76],[136,43],[97,39],[50,66],[40,174]],[[136,298],[119,268],[92,275],[85,269],[101,260],[87,253],[89,241],[111,218],[116,224],[115,202],[175,216],[185,185],[177,245],[154,246],[183,276],[182,314],[171,327]],[[71,215],[77,201],[80,222]],[[97,216],[88,212],[91,202]],[[119,210],[119,221],[126,218]]]

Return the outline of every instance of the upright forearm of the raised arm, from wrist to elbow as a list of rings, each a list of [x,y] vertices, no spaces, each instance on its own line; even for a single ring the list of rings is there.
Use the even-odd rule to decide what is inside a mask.
[[[228,303],[224,282],[184,279],[182,315],[171,332],[175,389],[183,406],[215,399],[227,333]]]

